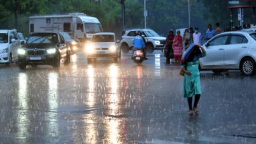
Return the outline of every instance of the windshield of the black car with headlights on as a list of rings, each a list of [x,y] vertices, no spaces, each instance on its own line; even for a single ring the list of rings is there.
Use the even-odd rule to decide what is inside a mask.
[[[56,34],[38,34],[31,35],[27,40],[27,44],[39,44],[39,43],[58,43],[58,37]]]

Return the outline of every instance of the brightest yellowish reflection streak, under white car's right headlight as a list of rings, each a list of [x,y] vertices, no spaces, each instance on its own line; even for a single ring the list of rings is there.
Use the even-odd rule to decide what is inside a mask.
[[[118,67],[115,65],[110,66],[110,86],[111,86],[111,95],[110,95],[110,115],[118,115],[119,113],[119,99],[118,99]],[[119,137],[119,120],[110,119],[109,121],[109,140],[110,143],[118,143]]]

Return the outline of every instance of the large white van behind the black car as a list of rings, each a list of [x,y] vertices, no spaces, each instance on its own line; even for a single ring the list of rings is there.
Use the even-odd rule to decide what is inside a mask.
[[[91,39],[95,33],[103,32],[97,18],[83,13],[29,17],[29,30],[30,34],[67,32],[81,42]]]

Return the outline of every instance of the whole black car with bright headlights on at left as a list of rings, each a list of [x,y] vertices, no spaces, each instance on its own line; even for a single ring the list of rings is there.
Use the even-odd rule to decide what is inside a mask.
[[[70,47],[59,33],[34,33],[19,50],[19,69],[27,65],[51,65],[70,63]]]

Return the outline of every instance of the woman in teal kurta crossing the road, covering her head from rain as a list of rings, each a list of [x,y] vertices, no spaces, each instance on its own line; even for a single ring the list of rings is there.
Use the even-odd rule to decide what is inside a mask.
[[[183,81],[183,98],[187,98],[189,103],[189,115],[199,114],[197,104],[201,97],[201,81],[199,73],[199,58],[205,57],[206,51],[201,45],[191,43],[189,48],[183,54],[182,58],[182,71],[184,74]],[[182,74],[182,73],[180,73]],[[194,106],[192,109],[192,100],[195,95]]]

